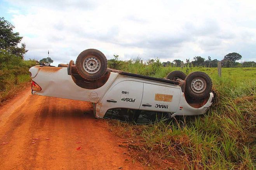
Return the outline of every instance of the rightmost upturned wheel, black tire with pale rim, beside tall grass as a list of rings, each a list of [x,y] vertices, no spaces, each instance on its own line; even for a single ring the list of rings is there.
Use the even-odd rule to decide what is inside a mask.
[[[192,99],[204,99],[212,90],[212,80],[204,72],[195,71],[186,76],[185,93]]]

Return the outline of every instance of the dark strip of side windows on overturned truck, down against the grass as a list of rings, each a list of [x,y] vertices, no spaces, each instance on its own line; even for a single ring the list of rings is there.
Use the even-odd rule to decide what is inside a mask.
[[[109,109],[104,116],[106,119],[117,119],[122,122],[134,122],[136,124],[150,124],[161,120],[167,120],[170,117],[171,114],[167,112],[124,108]]]

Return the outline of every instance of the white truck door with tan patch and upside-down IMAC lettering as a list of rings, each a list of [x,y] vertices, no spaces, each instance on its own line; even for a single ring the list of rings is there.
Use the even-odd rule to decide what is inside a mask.
[[[176,112],[180,99],[180,88],[144,83],[140,110]]]

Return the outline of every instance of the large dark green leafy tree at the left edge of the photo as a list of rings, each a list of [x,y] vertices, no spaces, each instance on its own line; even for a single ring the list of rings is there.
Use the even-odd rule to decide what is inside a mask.
[[[0,18],[0,49],[4,49],[12,54],[22,56],[21,48],[17,45],[22,37],[19,32],[13,32],[14,26],[3,17]]]

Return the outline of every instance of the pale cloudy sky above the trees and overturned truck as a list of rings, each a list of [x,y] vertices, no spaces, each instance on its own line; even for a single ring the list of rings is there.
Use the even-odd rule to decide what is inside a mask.
[[[95,48],[107,59],[221,60],[239,53],[256,61],[255,0],[0,0],[0,17],[15,26],[25,59],[53,65]]]

